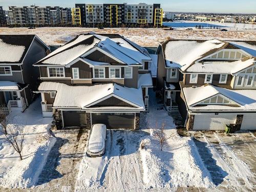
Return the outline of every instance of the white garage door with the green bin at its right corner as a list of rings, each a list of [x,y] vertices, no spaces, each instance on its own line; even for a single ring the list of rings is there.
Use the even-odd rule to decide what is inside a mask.
[[[226,124],[234,123],[236,118],[235,114],[195,115],[193,130],[224,130]]]

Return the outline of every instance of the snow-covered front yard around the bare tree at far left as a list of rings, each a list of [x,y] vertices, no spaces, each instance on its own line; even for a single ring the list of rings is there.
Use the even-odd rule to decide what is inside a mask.
[[[24,113],[13,111],[10,117],[15,123],[25,126],[24,159],[20,161],[18,154],[3,139],[4,135],[0,135],[0,186],[29,187],[36,183],[55,143],[56,139],[49,133],[52,118],[42,118],[40,99],[32,103]]]

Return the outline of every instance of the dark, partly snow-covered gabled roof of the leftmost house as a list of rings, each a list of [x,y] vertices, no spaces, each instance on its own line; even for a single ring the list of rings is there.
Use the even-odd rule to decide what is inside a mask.
[[[22,63],[34,39],[49,49],[36,35],[0,35],[0,63]]]

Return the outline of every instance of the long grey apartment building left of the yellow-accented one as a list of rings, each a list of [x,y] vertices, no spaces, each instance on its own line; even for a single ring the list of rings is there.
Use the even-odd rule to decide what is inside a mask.
[[[10,6],[8,25],[58,25],[62,23],[59,7]]]

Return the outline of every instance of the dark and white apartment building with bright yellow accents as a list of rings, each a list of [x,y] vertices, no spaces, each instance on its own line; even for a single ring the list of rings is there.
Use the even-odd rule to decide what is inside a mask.
[[[76,4],[72,9],[72,15],[73,25],[88,27],[95,27],[97,24],[161,26],[163,20],[163,10],[160,4],[146,3]]]

